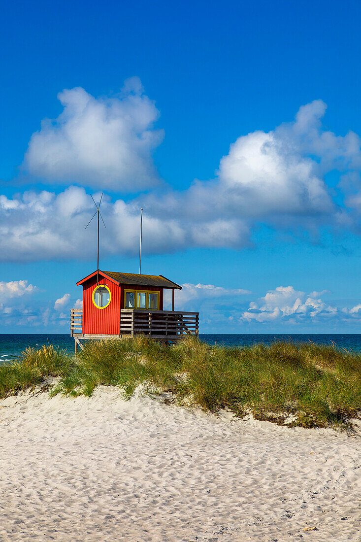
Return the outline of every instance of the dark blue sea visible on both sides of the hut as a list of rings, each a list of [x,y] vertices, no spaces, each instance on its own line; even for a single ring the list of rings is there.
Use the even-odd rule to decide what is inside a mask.
[[[334,344],[340,349],[361,353],[361,333],[347,334],[274,334],[274,333],[240,333],[240,334],[204,334],[199,333],[199,339],[211,345],[249,346],[257,343],[271,344],[278,340],[318,344]],[[0,334],[0,364],[15,362],[28,347],[39,348],[42,345],[53,344],[69,353],[74,352],[74,339],[68,334]]]

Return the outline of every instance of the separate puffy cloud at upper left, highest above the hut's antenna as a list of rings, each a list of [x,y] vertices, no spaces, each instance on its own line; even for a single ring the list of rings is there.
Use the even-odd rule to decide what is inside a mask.
[[[58,98],[63,112],[31,136],[24,162],[31,175],[117,191],[157,184],[151,153],[163,132],[153,128],[158,111],[138,78],[113,98],[94,98],[83,88]]]

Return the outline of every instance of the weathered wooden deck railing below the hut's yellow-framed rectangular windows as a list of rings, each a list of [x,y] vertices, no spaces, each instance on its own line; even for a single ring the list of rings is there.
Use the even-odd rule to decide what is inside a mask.
[[[143,333],[154,339],[173,339],[182,335],[197,335],[198,312],[120,310],[120,334]]]

